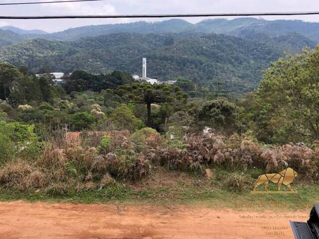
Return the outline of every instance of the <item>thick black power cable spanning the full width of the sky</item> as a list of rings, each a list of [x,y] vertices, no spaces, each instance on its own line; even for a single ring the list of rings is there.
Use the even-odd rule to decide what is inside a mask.
[[[65,2],[65,1],[64,1]],[[253,13],[200,13],[200,14],[142,14],[142,15],[51,15],[51,16],[0,16],[0,19],[59,19],[59,18],[161,18],[202,16],[289,16],[319,15],[319,11],[303,12],[253,12]]]

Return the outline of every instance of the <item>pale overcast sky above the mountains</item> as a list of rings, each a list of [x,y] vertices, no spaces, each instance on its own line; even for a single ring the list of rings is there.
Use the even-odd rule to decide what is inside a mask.
[[[1,0],[1,3],[33,2],[43,0]],[[54,0],[51,0],[54,1]],[[319,11],[317,0],[103,0],[92,2],[65,2],[49,4],[0,6],[0,15],[66,15],[66,14],[164,14],[164,13],[226,13],[269,11]],[[207,17],[205,17],[207,18]],[[265,19],[301,19],[319,22],[319,15],[267,16]],[[204,18],[183,18],[195,23]],[[229,17],[229,19],[232,19]],[[47,19],[0,20],[0,26],[13,25],[24,29],[56,32],[70,27],[125,23],[137,20],[162,19]]]

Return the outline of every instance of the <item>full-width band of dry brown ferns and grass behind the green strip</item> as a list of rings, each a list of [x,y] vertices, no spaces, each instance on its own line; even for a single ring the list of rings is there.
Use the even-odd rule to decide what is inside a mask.
[[[108,135],[107,150],[101,150],[97,141],[94,141],[96,147],[84,147],[85,144],[81,146],[80,143],[65,144],[59,148],[51,143],[44,149],[43,155],[34,161],[8,161],[0,168],[0,184],[19,190],[46,188],[49,195],[64,195],[74,189],[97,190],[114,184],[116,180],[140,180],[139,183],[147,184],[144,178],[147,180],[149,175],[154,177],[160,174],[153,170],[152,164],[163,165],[166,171],[178,170],[168,176],[167,187],[188,185],[186,179],[179,185],[172,185],[174,180],[179,180],[176,175],[182,175],[179,171],[193,171],[202,177],[207,167],[214,166],[241,172],[252,167],[276,172],[289,166],[303,175],[301,178],[319,178],[319,152],[305,145],[267,147],[238,135],[226,138],[215,134],[189,134],[174,143],[153,129],[140,130],[132,136],[128,131],[112,131]],[[167,177],[167,174],[165,172],[162,177]],[[160,177],[155,181],[159,185],[168,182]],[[225,183],[236,191],[242,188],[245,178],[234,174]]]

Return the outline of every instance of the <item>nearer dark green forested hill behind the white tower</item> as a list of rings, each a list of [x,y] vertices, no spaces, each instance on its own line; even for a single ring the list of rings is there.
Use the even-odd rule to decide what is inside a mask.
[[[293,44],[294,37],[302,36],[265,41],[213,33],[117,33],[64,42],[34,39],[1,47],[0,61],[25,65],[34,72],[47,66],[57,72],[116,69],[141,75],[141,59],[147,57],[150,77],[167,80],[183,76],[202,85],[221,80],[227,89],[243,92],[258,85],[261,71],[282,56],[284,46]]]

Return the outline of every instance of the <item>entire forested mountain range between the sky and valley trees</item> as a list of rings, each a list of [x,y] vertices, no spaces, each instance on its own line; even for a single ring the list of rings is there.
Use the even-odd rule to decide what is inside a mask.
[[[243,93],[256,89],[262,71],[284,54],[315,48],[318,23],[256,18],[207,19],[196,24],[181,19],[84,26],[57,33],[0,29],[0,62],[38,73],[115,70],[161,81],[181,76],[199,87]],[[216,34],[218,33],[218,34]],[[85,61],[83,60],[85,59]]]

